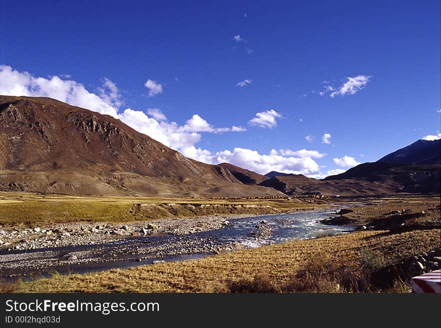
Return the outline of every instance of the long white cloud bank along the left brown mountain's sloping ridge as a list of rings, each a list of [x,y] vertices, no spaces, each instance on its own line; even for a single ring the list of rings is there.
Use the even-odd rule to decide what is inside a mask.
[[[103,79],[103,86],[98,88],[97,95],[90,93],[82,84],[75,81],[64,81],[57,76],[50,79],[38,78],[28,72],[19,72],[2,65],[0,66],[0,94],[50,97],[73,106],[108,114],[176,150],[194,146],[199,142],[201,135],[197,132],[246,131],[240,126],[214,128],[197,114],[193,115],[184,126],[179,126],[175,122],[168,122],[166,116],[158,108],[147,109],[147,114],[130,108],[118,113],[118,107],[121,105],[119,90],[109,79]]]

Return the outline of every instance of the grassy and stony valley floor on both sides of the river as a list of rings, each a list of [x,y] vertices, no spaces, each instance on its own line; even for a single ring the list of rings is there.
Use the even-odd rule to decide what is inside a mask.
[[[338,199],[338,204],[335,199],[332,204],[316,199],[308,201],[112,199],[2,193],[0,213],[3,216],[0,217],[4,226],[0,234],[11,240],[7,241],[9,245],[3,241],[4,252],[21,247],[54,247],[44,242],[56,240],[87,244],[126,238],[133,233],[192,234],[218,229],[228,224],[228,219],[240,217],[239,214],[318,211],[330,206],[343,209],[325,220],[325,224],[358,226],[364,231],[255,249],[220,249],[216,251],[220,254],[182,262],[5,282],[0,289],[19,292],[407,292],[412,256],[431,249],[435,249],[435,255],[439,252],[439,248],[436,249],[441,242],[439,196],[350,198]],[[118,209],[124,214],[119,223],[116,223],[116,214],[112,216],[111,210],[106,216],[102,206],[123,208]],[[78,213],[89,213],[90,217]],[[101,216],[93,219],[91,213]],[[197,214],[210,215],[194,217]],[[159,219],[161,216],[165,218]],[[179,216],[188,218],[178,219]],[[0,235],[0,239],[6,240],[4,237]],[[436,264],[438,260],[439,255],[429,261]]]

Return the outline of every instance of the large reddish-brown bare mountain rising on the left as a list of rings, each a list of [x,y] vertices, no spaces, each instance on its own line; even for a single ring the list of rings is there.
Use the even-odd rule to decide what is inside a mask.
[[[0,190],[227,197],[280,194],[244,184],[226,165],[188,159],[111,116],[50,98],[12,96],[0,96]]]

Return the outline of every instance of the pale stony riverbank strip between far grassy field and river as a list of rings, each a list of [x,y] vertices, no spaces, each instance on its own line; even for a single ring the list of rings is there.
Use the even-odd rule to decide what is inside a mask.
[[[337,206],[322,206],[290,209],[286,213],[320,213],[337,209],[339,209]],[[130,223],[74,222],[6,226],[0,228],[0,251],[95,245],[116,242],[130,236],[185,235],[220,229],[227,226],[230,223],[229,220],[280,213],[283,212],[162,218]]]

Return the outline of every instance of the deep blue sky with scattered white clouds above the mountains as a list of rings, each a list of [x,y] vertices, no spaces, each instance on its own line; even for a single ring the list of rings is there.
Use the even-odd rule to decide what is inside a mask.
[[[439,1],[0,4],[0,94],[198,160],[323,177],[441,137]]]

